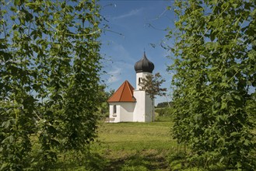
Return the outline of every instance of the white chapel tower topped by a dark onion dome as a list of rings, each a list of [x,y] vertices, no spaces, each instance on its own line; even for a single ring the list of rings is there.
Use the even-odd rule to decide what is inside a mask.
[[[135,105],[134,117],[133,120],[137,122],[150,122],[153,121],[153,101],[150,99],[149,95],[141,90],[140,82],[142,78],[145,79],[146,75],[151,75],[155,66],[153,62],[149,61],[144,55],[141,60],[135,63],[135,72],[136,72],[136,89],[134,90],[135,99],[137,103]]]

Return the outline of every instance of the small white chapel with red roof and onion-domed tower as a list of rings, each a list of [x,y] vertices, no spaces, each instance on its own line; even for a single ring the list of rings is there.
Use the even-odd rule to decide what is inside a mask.
[[[153,121],[154,102],[142,90],[140,83],[146,75],[151,75],[154,70],[153,62],[146,58],[135,63],[136,89],[125,81],[116,92],[107,100],[110,105],[110,122],[151,122]]]

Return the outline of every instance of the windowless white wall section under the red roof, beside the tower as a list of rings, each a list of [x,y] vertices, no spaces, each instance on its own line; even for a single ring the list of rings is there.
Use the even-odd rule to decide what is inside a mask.
[[[120,103],[120,121],[132,122],[135,103]]]

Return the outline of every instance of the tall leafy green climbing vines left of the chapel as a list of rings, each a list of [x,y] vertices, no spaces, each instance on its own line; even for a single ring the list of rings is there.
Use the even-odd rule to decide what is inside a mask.
[[[100,14],[96,1],[0,1],[0,167],[39,169],[96,137]]]

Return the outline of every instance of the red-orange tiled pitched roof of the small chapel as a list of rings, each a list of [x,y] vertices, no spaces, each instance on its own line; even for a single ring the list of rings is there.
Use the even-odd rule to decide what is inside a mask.
[[[135,97],[133,96],[134,88],[132,85],[125,81],[112,96],[107,100],[110,102],[136,102]]]

